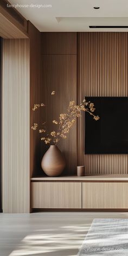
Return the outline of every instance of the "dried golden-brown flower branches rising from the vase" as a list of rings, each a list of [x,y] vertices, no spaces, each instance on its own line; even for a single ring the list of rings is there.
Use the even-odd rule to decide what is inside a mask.
[[[52,95],[55,94],[55,91],[51,93]],[[33,111],[35,111],[40,106],[45,106],[43,103],[35,104]],[[40,129],[39,133],[44,133],[44,137],[41,137],[41,140],[44,140],[46,144],[54,144],[56,145],[60,139],[66,139],[67,133],[69,133],[69,130],[74,125],[76,118],[81,117],[82,111],[88,112],[93,116],[94,120],[99,120],[99,116],[95,116],[94,111],[94,104],[90,101],[86,101],[86,99],[83,100],[83,102],[80,105],[75,105],[75,101],[70,101],[69,106],[66,113],[61,113],[59,116],[59,120],[53,120],[53,124],[56,125],[56,131],[48,132],[46,135],[46,129]],[[43,122],[42,125],[45,125],[46,122]],[[34,124],[34,126],[31,127],[31,129],[36,130],[38,124]]]

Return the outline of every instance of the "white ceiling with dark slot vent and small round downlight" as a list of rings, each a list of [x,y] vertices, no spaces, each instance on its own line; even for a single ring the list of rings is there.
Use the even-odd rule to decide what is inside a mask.
[[[51,8],[21,7],[18,11],[40,31],[128,31],[89,29],[89,25],[128,25],[128,0],[10,0],[11,4],[50,4]],[[99,6],[99,10],[93,9]]]

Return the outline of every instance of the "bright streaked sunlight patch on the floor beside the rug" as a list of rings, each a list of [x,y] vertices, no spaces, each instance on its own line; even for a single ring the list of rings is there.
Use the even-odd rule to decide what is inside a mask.
[[[79,251],[89,226],[61,226],[59,229],[50,229],[49,233],[37,230],[35,231],[36,234],[25,236],[20,245],[9,256],[45,255],[46,253],[52,255],[53,252],[65,252],[68,250],[70,251],[69,255],[73,256],[74,253],[72,254],[71,250]]]

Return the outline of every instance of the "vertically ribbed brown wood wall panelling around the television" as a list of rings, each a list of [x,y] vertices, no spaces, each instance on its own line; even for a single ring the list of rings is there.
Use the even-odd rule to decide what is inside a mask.
[[[85,96],[128,96],[128,33],[78,33],[78,102]],[[79,165],[87,174],[127,174],[127,155],[84,155],[84,116],[78,124]]]

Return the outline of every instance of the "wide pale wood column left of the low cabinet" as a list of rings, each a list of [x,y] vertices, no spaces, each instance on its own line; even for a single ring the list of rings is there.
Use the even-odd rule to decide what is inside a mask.
[[[29,40],[3,40],[3,212],[29,213]]]

